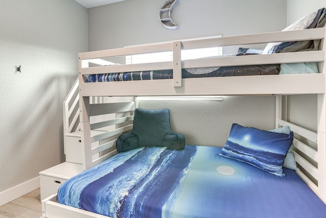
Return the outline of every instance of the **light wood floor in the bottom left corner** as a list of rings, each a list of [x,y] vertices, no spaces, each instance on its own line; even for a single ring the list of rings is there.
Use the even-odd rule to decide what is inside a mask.
[[[0,207],[0,218],[39,218],[41,215],[39,188]]]

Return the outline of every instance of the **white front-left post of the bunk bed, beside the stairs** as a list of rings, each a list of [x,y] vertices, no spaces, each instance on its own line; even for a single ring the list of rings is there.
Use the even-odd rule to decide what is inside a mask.
[[[85,65],[83,63],[82,58],[80,57],[80,53],[78,54],[78,68],[79,68],[79,122],[80,122],[80,131],[81,131],[81,139],[82,139],[82,154],[83,154],[83,168],[84,171],[89,168],[88,161],[92,160],[91,155],[91,128],[90,128],[90,98],[89,96],[82,95],[82,87],[84,84],[84,78],[82,75],[82,67]]]

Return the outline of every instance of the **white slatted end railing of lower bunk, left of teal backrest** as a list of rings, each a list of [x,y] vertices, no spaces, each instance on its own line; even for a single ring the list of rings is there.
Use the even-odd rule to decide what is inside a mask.
[[[87,100],[89,101],[89,99]],[[116,155],[116,141],[119,135],[132,129],[135,102],[133,97],[107,97],[102,103],[89,104],[89,122],[80,123],[84,169],[97,165],[109,157]],[[102,134],[91,135],[91,130],[103,131]],[[96,146],[92,146],[96,144]]]

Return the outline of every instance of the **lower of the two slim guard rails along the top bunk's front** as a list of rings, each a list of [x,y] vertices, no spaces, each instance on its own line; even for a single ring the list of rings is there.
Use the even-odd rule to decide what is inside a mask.
[[[176,51],[175,51],[176,52]],[[132,72],[146,70],[175,69],[176,72],[182,68],[196,67],[222,67],[222,66],[244,66],[258,64],[279,64],[279,63],[299,63],[299,62],[319,62],[324,60],[323,51],[278,53],[266,55],[243,55],[218,58],[203,58],[181,61],[181,51],[173,56],[174,62],[157,62],[143,64],[126,64],[113,66],[98,66],[82,68],[82,75],[108,74],[115,72]],[[181,62],[181,65],[179,64]],[[176,75],[178,78],[178,75]]]

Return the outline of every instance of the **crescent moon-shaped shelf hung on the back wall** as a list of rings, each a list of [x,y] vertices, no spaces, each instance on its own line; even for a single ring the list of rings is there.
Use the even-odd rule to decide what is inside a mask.
[[[159,9],[159,20],[161,21],[162,25],[169,30],[175,30],[179,28],[179,26],[176,25],[171,18],[172,10],[178,3],[179,0],[169,0],[166,1]]]

